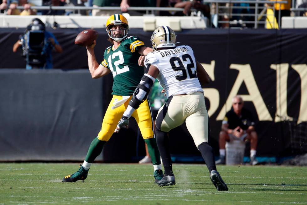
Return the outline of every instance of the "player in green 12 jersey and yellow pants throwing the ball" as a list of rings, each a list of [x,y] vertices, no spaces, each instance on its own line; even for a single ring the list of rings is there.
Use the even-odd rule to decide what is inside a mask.
[[[98,64],[94,54],[93,45],[87,46],[88,67],[92,78],[100,78],[112,72],[113,87],[112,100],[107,108],[102,121],[101,130],[88,149],[86,158],[80,169],[72,175],[63,178],[63,182],[75,182],[85,180],[88,170],[95,158],[101,153],[102,148],[111,138],[116,129],[117,122],[126,111],[129,100],[144,75],[144,68],[139,66],[143,58],[152,51],[152,48],[144,46],[144,42],[137,36],[127,37],[128,21],[121,14],[114,14],[107,19],[107,32],[109,41],[113,44],[104,52],[103,61]],[[139,61],[139,62],[138,62]],[[139,63],[139,64],[138,64]],[[161,170],[160,153],[153,134],[153,120],[148,100],[145,100],[132,115],[138,123],[148,152],[151,156],[155,182],[163,178]]]

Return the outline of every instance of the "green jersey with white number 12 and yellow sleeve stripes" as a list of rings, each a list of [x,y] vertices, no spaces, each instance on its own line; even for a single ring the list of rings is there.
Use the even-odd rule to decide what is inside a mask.
[[[113,74],[113,95],[132,95],[140,83],[144,68],[138,65],[140,54],[137,50],[142,46],[144,42],[137,36],[129,36],[115,50],[113,46],[105,50],[101,65],[109,68]]]

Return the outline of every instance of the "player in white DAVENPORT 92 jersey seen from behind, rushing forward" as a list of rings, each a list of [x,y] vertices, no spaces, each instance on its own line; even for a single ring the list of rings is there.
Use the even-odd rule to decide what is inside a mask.
[[[227,191],[227,185],[216,170],[212,147],[209,145],[209,116],[205,97],[197,75],[202,76],[201,83],[210,78],[202,65],[195,60],[190,46],[176,46],[175,32],[168,26],[159,26],[151,37],[153,52],[145,57],[148,72],[134,91],[127,110],[118,122],[114,132],[127,127],[133,111],[146,100],[155,81],[159,80],[168,97],[160,108],[156,118],[156,140],[164,165],[164,177],[157,182],[159,186],[175,184],[167,133],[186,123],[194,143],[209,169],[210,179],[218,191]]]

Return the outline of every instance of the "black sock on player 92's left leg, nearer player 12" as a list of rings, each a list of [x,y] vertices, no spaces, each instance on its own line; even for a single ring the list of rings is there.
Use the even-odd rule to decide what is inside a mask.
[[[169,151],[169,138],[167,132],[162,132],[156,127],[156,140],[162,158],[165,175],[173,175],[172,160]]]

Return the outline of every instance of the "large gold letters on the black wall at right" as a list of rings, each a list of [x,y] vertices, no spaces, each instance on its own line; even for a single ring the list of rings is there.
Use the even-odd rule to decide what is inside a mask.
[[[211,80],[214,81],[214,68],[215,61],[211,61],[210,64],[201,63]],[[307,65],[299,64],[291,66],[297,73],[299,73],[301,80],[301,100],[298,124],[302,121],[307,121]],[[287,79],[289,63],[272,64],[271,69],[276,70],[276,116],[274,121],[279,122],[283,120],[292,121],[293,118],[287,114]],[[259,121],[273,121],[267,106],[265,105],[263,98],[260,94],[255,78],[252,74],[252,69],[249,64],[231,64],[230,69],[236,69],[239,71],[235,83],[228,95],[226,103],[223,105],[216,120],[223,120],[226,112],[230,110],[232,106],[232,97],[238,94],[242,83],[246,85],[249,94],[241,95],[244,101],[251,101],[256,109]],[[204,96],[210,102],[210,109],[208,110],[209,117],[211,117],[218,109],[220,103],[219,91],[215,88],[203,88]]]

